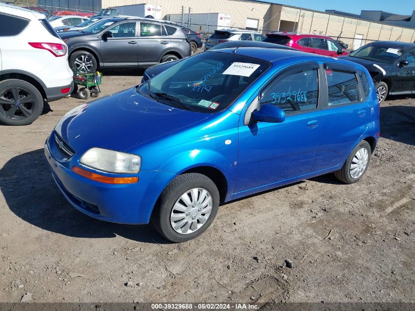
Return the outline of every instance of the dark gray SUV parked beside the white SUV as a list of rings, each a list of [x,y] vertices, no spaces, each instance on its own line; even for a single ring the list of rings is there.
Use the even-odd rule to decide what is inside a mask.
[[[147,18],[107,18],[60,36],[68,45],[69,65],[78,71],[146,68],[192,54],[181,27]]]

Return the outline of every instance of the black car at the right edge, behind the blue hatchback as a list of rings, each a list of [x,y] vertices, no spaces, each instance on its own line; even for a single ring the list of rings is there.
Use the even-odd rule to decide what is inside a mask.
[[[377,41],[341,57],[363,65],[370,73],[379,102],[387,95],[415,94],[415,44]]]

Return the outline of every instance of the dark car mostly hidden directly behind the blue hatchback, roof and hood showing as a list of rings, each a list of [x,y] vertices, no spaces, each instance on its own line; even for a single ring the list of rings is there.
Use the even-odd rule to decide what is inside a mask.
[[[215,45],[214,47],[210,48],[206,52],[211,52],[215,50],[220,49],[226,49],[226,48],[238,48],[238,47],[245,47],[245,48],[268,48],[268,49],[281,49],[281,50],[294,50],[298,51],[297,49],[293,49],[284,45],[275,44],[275,43],[268,43],[263,41],[245,41],[245,40],[235,40],[235,41],[228,41],[224,42],[218,45]],[[150,67],[144,71],[144,75],[141,79],[141,83],[146,82],[148,79],[153,78],[157,76],[159,73],[165,71],[166,69],[172,67],[173,65],[181,62],[183,59],[178,59],[174,61],[169,61],[166,63],[158,64],[153,67]]]

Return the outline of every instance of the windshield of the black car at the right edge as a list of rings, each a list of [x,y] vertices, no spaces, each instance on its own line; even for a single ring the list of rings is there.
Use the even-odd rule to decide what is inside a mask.
[[[391,64],[398,60],[403,52],[401,49],[366,45],[350,53],[350,56]]]

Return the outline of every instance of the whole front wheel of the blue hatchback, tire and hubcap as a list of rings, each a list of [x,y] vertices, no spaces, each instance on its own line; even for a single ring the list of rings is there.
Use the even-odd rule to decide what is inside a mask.
[[[212,224],[219,208],[219,191],[205,175],[188,173],[173,179],[152,214],[157,231],[172,242],[185,242]]]

